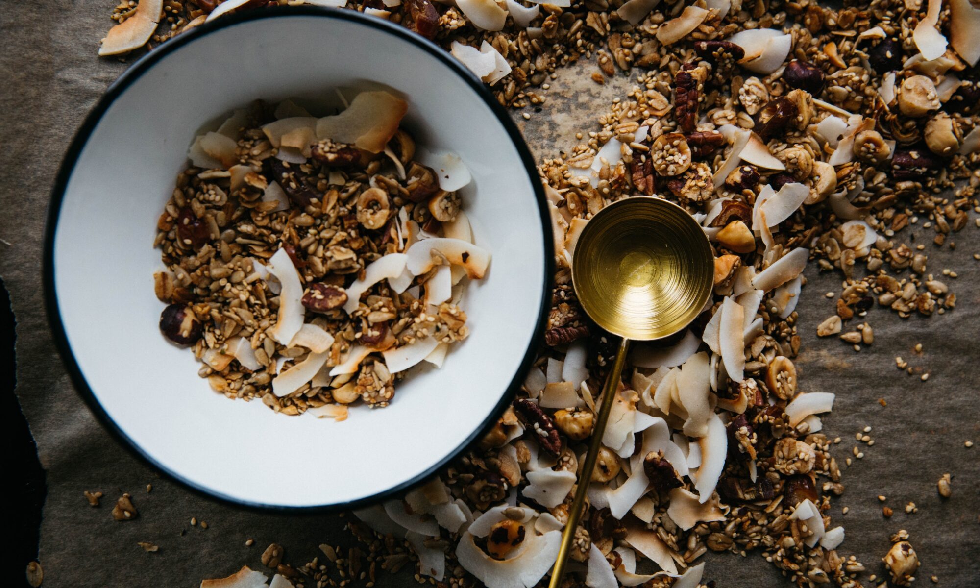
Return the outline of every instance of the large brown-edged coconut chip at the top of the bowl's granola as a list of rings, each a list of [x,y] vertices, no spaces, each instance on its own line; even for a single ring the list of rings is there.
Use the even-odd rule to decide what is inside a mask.
[[[388,92],[361,92],[339,115],[317,121],[317,137],[381,153],[408,110],[407,102]]]

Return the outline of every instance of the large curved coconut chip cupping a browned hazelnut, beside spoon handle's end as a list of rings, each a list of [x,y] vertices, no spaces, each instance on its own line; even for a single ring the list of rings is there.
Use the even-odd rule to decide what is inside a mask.
[[[475,523],[474,523],[475,524]],[[524,539],[523,550],[510,560],[494,560],[473,543],[469,532],[460,537],[456,558],[466,571],[476,576],[487,588],[531,588],[555,564],[562,543],[561,531],[544,535],[530,533]]]

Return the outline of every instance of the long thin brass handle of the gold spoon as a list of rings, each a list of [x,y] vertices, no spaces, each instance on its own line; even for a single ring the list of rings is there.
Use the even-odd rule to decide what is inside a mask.
[[[568,521],[564,523],[562,547],[558,551],[558,560],[555,561],[555,568],[552,570],[552,577],[548,583],[548,588],[558,588],[562,583],[564,563],[568,559],[568,550],[571,548],[571,541],[575,538],[578,519],[582,516],[582,506],[585,503],[585,496],[589,490],[589,482],[592,480],[592,470],[596,468],[596,460],[599,458],[599,446],[602,445],[603,433],[606,431],[606,422],[610,419],[610,413],[613,410],[615,389],[619,385],[619,377],[622,373],[623,365],[626,363],[627,349],[629,349],[629,339],[624,338],[619,344],[619,350],[615,354],[613,368],[606,377],[606,386],[603,388],[603,404],[599,408],[599,415],[596,417],[596,426],[593,428],[592,438],[589,440],[589,453],[585,456],[582,474],[578,479],[578,488],[575,490],[575,497],[572,499],[571,508],[568,510]]]

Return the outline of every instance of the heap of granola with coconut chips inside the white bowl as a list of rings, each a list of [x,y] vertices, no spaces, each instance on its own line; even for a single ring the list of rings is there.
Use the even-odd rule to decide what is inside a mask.
[[[163,335],[216,392],[284,415],[385,407],[406,370],[440,367],[490,263],[460,158],[417,146],[387,91],[345,105],[236,110],[191,145],[157,222]]]

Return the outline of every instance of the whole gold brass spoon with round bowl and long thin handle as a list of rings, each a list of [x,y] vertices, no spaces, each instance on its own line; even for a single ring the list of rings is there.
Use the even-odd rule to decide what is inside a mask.
[[[714,282],[711,244],[704,229],[679,206],[662,198],[625,198],[599,211],[582,229],[572,254],[571,281],[589,318],[622,342],[603,387],[550,588],[562,582],[629,341],[669,337],[701,313]]]

